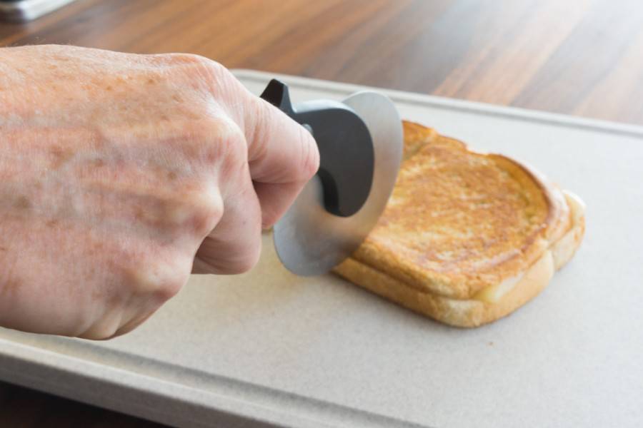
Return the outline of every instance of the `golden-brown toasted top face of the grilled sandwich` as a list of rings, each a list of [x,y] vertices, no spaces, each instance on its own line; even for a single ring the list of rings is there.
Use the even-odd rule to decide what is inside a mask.
[[[466,299],[542,255],[564,223],[558,189],[504,156],[429,128],[422,138],[417,124],[404,130],[397,184],[354,259],[419,291]]]

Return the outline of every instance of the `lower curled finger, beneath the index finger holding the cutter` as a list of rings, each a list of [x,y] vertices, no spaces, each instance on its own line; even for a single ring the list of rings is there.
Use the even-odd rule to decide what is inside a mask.
[[[241,273],[259,260],[261,206],[247,167],[237,183],[236,190],[224,199],[219,224],[196,252],[194,273]]]

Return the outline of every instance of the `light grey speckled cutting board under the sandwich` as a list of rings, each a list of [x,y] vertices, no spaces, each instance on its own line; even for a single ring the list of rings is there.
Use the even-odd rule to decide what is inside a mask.
[[[274,75],[236,71],[259,93]],[[358,86],[280,76],[294,101]],[[643,426],[643,128],[384,91],[403,118],[527,161],[587,203],[535,300],[459,330],[332,275],[192,277],[109,342],[0,329],[0,378],[182,426]]]

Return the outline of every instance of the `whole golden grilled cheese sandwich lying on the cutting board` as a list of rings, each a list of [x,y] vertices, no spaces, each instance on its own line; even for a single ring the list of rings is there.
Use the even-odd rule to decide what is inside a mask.
[[[474,327],[537,295],[583,233],[582,201],[537,171],[404,122],[387,208],[335,272],[436,320]]]

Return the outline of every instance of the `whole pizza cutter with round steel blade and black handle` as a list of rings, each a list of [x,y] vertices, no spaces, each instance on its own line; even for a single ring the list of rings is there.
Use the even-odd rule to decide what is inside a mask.
[[[288,86],[272,80],[261,98],[301,123],[319,147],[319,170],[274,225],[274,245],[291,272],[320,275],[357,250],[382,215],[402,161],[402,121],[374,91],[292,105]]]

